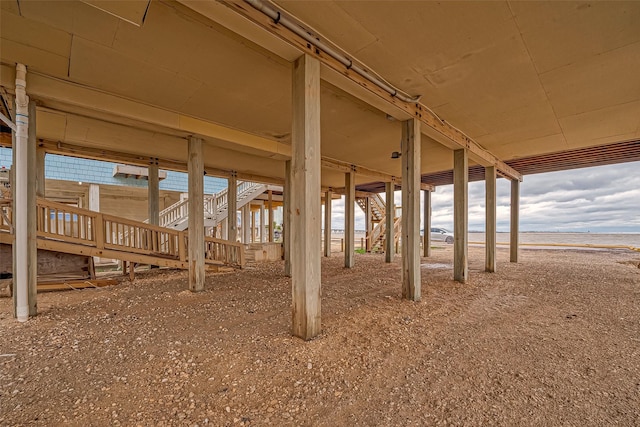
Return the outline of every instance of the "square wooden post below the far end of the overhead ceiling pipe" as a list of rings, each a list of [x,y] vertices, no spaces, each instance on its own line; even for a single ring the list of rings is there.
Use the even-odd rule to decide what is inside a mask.
[[[402,122],[402,297],[420,301],[420,122]]]

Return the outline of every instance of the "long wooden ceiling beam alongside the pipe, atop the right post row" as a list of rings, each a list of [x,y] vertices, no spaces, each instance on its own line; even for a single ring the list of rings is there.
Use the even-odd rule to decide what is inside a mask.
[[[318,58],[322,64],[331,68],[332,70],[344,75],[346,78],[354,81],[359,86],[366,88],[369,92],[374,93],[379,98],[383,99],[386,103],[391,104],[397,109],[408,114],[410,117],[414,117],[419,120],[423,125],[422,132],[429,137],[438,141],[439,143],[451,148],[451,149],[466,149],[469,156],[477,163],[483,166],[495,166],[500,175],[508,177],[510,179],[522,180],[522,175],[491,154],[485,148],[480,146],[473,139],[465,135],[462,131],[450,125],[449,123],[441,120],[431,110],[419,102],[404,102],[397,97],[390,96],[389,92],[371,83],[368,79],[364,78],[358,73],[355,73],[350,67],[347,67],[338,60],[330,57],[326,52],[319,49],[317,46],[309,43],[298,34],[285,28],[283,25],[274,23],[273,19],[254,9],[246,2],[219,0],[222,3],[229,6],[232,10],[235,10],[239,14],[247,17],[252,22],[259,25],[266,30],[269,34],[278,36],[291,46],[300,50],[300,52],[307,55]],[[269,3],[270,7],[274,7],[272,3]],[[284,14],[284,11],[283,11]],[[326,45],[334,46],[328,40],[321,39],[319,35],[316,35],[318,40]],[[340,48],[336,47],[336,50],[340,51]],[[366,102],[366,100],[363,100]]]

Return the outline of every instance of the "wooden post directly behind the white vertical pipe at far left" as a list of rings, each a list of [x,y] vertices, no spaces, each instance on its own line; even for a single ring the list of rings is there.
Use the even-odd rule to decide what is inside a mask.
[[[29,316],[38,314],[38,244],[36,218],[37,191],[37,141],[36,141],[36,103],[29,102],[29,136],[27,147],[27,250],[29,253],[27,277],[29,284]],[[42,175],[44,177],[44,173]],[[44,185],[43,185],[44,187]],[[16,216],[17,217],[17,216]]]

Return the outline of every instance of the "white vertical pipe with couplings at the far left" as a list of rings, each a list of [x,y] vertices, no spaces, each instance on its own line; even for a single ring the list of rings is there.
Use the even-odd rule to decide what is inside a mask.
[[[16,317],[18,322],[29,319],[29,274],[27,248],[27,157],[29,135],[29,97],[26,91],[27,67],[16,65],[16,164],[15,168],[15,257],[16,271],[13,272],[13,288],[16,293]]]

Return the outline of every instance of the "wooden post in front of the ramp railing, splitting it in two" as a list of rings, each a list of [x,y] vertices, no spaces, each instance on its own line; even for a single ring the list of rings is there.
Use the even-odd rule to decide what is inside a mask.
[[[189,290],[204,290],[204,160],[202,139],[189,137]],[[131,267],[133,269],[133,267]]]

